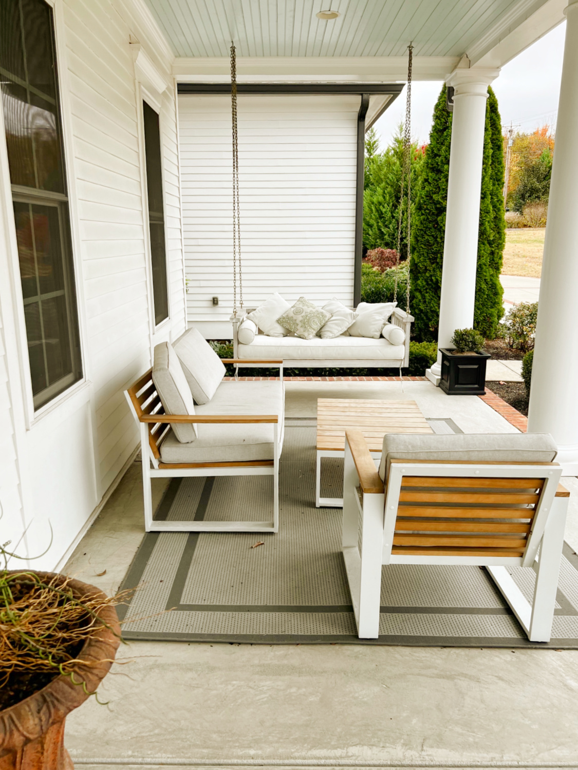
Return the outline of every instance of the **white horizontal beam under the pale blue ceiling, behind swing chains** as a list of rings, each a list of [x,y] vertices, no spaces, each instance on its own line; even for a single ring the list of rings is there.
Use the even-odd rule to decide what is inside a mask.
[[[416,56],[414,80],[444,80],[459,56]],[[230,60],[224,57],[176,58],[177,82],[229,82]],[[405,82],[406,56],[271,56],[237,59],[239,82]]]

